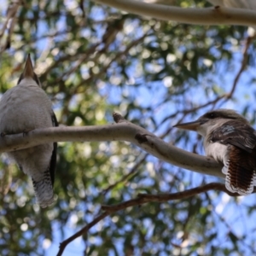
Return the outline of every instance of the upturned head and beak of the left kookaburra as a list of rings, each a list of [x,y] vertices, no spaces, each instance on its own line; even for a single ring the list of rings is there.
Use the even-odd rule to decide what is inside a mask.
[[[38,79],[38,76],[34,73],[30,54],[27,55],[24,71],[23,73],[21,73],[20,79],[18,80],[18,84],[23,84],[23,83],[26,83],[26,84],[34,83],[34,84],[37,84],[39,87],[42,87]]]

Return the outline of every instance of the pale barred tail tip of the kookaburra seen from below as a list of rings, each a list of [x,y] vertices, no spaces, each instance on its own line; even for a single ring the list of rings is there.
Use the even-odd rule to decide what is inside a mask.
[[[35,181],[32,178],[32,183],[40,207],[49,207],[54,202],[54,191],[49,171],[44,172],[44,178],[40,181]]]

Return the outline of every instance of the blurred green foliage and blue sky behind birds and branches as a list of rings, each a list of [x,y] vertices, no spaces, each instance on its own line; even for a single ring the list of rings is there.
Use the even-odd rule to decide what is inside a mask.
[[[210,6],[200,0],[177,3]],[[3,24],[8,4],[1,8]],[[172,125],[223,107],[236,108],[255,123],[255,41],[241,82],[234,85],[247,27],[164,22],[76,0],[25,1],[16,18],[11,35],[7,29],[1,39],[0,90],[16,84],[32,53],[61,124],[104,125],[117,111],[166,141],[202,154],[199,137],[172,131]],[[0,167],[8,183],[3,190],[10,186],[0,195],[1,255],[44,255],[53,247],[56,252],[58,243],[95,218],[102,204],[218,180],[167,165],[129,143],[59,143],[55,204],[40,209],[29,178],[4,155]],[[71,243],[65,253],[253,255],[253,201],[255,195],[232,199],[211,191],[128,208],[105,218],[79,248]]]

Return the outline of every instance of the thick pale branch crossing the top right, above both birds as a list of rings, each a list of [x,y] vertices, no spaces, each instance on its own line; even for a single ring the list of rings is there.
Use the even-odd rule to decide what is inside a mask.
[[[256,12],[251,9],[235,9],[219,6],[204,9],[184,9],[174,6],[143,3],[134,0],[92,1],[107,4],[108,6],[124,10],[131,14],[146,15],[158,20],[173,20],[181,23],[198,25],[256,25]]]

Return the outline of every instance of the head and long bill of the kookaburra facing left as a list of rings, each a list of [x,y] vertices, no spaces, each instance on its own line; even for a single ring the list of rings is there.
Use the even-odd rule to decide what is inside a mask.
[[[234,110],[217,109],[203,114],[199,119],[193,122],[177,124],[173,127],[189,131],[197,131],[202,137],[206,137],[209,132],[223,125],[230,119],[241,121],[242,123],[249,125],[247,119],[243,118]]]

